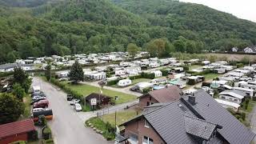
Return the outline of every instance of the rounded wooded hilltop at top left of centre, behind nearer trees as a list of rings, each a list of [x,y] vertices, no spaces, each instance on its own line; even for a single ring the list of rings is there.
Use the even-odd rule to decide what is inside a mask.
[[[42,7],[34,9],[39,14]],[[112,26],[145,26],[146,21],[138,15],[122,10],[106,0],[69,0],[59,2],[42,13],[44,18],[61,22],[94,22]]]

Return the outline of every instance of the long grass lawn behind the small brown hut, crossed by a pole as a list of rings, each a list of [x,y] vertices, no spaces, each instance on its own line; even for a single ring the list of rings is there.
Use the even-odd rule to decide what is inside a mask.
[[[87,96],[91,93],[100,93],[100,88],[96,86],[89,86],[86,84],[78,84],[78,85],[69,85],[66,84],[67,87],[70,87],[70,89],[78,92],[79,94],[82,94],[84,96]],[[137,97],[132,94],[125,94],[114,90],[106,90],[103,88],[102,90],[103,94],[106,94],[107,96],[110,96],[114,98],[114,96],[118,96],[118,101],[116,101],[116,104],[130,102],[135,100]]]

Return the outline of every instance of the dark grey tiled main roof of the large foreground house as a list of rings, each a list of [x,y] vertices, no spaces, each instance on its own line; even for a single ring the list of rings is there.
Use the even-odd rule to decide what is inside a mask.
[[[187,126],[198,123],[201,126],[208,126],[209,123],[222,126],[222,129],[217,129],[217,131],[229,143],[250,143],[253,140],[255,134],[246,128],[246,126],[243,126],[237,118],[234,118],[230,112],[218,104],[204,90],[194,92],[194,96],[196,97],[196,104],[194,106],[190,105],[187,102],[188,97],[184,96],[162,107],[158,106],[158,109],[146,110],[146,112],[143,112],[136,119],[146,118],[166,143],[197,143],[192,137],[194,134],[208,138],[212,130],[211,126],[213,125],[209,125],[210,129],[207,132],[189,130],[185,124],[188,120],[184,118],[185,114],[194,119],[202,119],[202,122],[190,122]],[[130,122],[134,122],[134,120]],[[129,122],[126,122],[123,126],[128,124]],[[200,126],[195,127],[198,128]],[[210,142],[222,143],[219,137],[210,138]]]

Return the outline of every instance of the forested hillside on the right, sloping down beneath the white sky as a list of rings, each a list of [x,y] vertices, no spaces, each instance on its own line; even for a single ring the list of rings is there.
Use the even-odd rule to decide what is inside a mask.
[[[238,19],[231,14],[226,14],[207,6],[177,2],[172,0],[113,0],[118,6],[140,14],[146,18],[151,26],[167,26],[175,30],[191,30],[190,36],[198,36],[203,42],[214,49],[218,43],[246,41],[256,43],[256,24]],[[199,35],[197,35],[198,33]]]

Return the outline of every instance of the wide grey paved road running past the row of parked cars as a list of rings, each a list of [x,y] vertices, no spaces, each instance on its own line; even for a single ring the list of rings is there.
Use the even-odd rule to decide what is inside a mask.
[[[42,91],[50,101],[54,119],[48,124],[54,134],[54,142],[57,144],[88,143],[105,144],[107,142],[102,135],[96,134],[94,130],[86,128],[84,121],[66,102],[66,94],[56,90],[54,86],[43,82],[40,78],[33,78],[33,86],[41,86]]]

